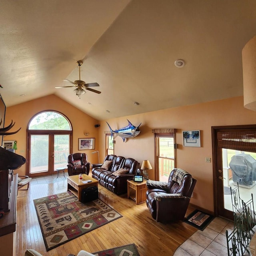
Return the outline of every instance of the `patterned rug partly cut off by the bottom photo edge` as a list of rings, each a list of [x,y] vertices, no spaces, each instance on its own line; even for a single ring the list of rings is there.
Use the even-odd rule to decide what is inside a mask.
[[[140,256],[135,244],[127,244],[108,250],[94,252],[95,256]]]

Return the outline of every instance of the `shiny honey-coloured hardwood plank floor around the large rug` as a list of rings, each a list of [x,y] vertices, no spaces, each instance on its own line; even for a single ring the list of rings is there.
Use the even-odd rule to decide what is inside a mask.
[[[146,203],[136,205],[127,194],[117,196],[99,185],[99,197],[123,217],[80,236],[48,252],[36,216],[33,200],[67,190],[67,181],[31,184],[29,190],[19,190],[17,198],[16,256],[24,256],[27,248],[44,256],[66,256],[80,250],[96,252],[125,244],[136,244],[140,256],[171,256],[176,248],[197,229],[177,222],[162,224],[152,219]],[[194,208],[188,208],[186,215]]]

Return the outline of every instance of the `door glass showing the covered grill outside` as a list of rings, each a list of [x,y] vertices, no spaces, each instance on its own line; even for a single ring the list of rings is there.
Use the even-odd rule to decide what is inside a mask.
[[[224,208],[232,211],[230,187],[247,202],[256,192],[256,153],[222,148]],[[254,199],[254,204],[256,203]]]

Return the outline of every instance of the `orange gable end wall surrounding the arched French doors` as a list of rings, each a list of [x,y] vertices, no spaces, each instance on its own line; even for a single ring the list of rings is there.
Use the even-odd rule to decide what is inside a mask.
[[[6,108],[5,126],[10,124],[11,120],[13,120],[15,126],[10,132],[18,130],[18,128],[21,127],[21,130],[17,134],[4,137],[4,140],[17,140],[18,149],[16,150],[16,154],[26,158],[26,129],[28,123],[34,115],[44,110],[55,110],[64,114],[70,120],[73,128],[73,152],[85,152],[88,155],[89,161],[98,162],[97,154],[91,154],[94,150],[78,151],[78,138],[86,138],[84,132],[90,132],[88,138],[96,138],[95,147],[98,147],[98,130],[94,127],[95,124],[98,124],[98,121],[55,95],[42,97]],[[16,173],[25,175],[26,164],[17,169]]]

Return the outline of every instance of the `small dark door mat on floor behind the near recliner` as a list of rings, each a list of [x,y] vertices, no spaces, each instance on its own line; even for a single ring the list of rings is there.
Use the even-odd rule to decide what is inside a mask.
[[[204,230],[206,226],[214,219],[214,216],[202,212],[200,210],[194,210],[189,214],[184,222],[190,224],[193,227],[198,228],[199,230]]]

